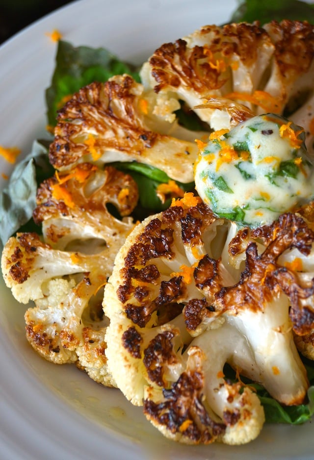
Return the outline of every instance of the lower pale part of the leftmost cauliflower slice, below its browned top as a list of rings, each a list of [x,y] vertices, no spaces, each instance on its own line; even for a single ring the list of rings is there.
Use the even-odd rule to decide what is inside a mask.
[[[109,275],[107,251],[64,252],[42,243],[36,233],[21,233],[8,240],[1,263],[14,297],[22,303],[35,302],[26,310],[25,321],[26,338],[36,352],[57,364],[76,362],[91,376],[98,372],[95,380],[111,386],[102,345],[105,326],[91,315],[83,318],[87,309],[102,316],[102,287]],[[90,342],[95,328],[99,328],[98,340]]]

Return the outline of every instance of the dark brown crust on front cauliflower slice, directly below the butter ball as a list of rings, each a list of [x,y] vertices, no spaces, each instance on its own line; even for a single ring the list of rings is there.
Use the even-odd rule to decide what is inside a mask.
[[[309,255],[314,242],[313,231],[301,217],[286,213],[269,226],[251,230],[251,237],[256,241],[262,240],[266,249],[259,255],[256,243],[248,244],[246,266],[241,279],[235,286],[221,288],[216,294],[218,304],[232,314],[236,314],[242,308],[257,311],[263,309],[263,306],[281,290],[291,302],[290,319],[294,331],[300,334],[304,328],[313,327],[313,310],[302,306],[302,300],[314,294],[313,283],[303,285],[295,272],[278,262],[278,258],[292,248]],[[242,239],[237,236],[235,241],[242,252]],[[235,241],[230,245],[233,254],[236,248]],[[309,319],[310,317],[312,319]]]

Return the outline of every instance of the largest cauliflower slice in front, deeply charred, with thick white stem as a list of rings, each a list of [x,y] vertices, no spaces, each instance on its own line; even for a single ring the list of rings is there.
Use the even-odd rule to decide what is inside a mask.
[[[129,235],[105,286],[106,356],[117,386],[165,436],[242,444],[259,434],[259,399],[224,379],[226,363],[283,404],[303,401],[293,337],[314,327],[310,227],[288,213],[237,230],[186,194]]]

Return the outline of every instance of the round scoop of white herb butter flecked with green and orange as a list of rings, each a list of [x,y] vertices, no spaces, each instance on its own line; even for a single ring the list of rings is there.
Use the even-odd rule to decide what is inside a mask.
[[[274,114],[210,134],[194,165],[195,186],[219,216],[271,223],[313,198],[314,167],[304,130]]]

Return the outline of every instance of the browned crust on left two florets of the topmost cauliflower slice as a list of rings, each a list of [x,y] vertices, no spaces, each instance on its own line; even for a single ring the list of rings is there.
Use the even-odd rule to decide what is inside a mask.
[[[210,91],[220,89],[229,78],[225,67],[216,66],[215,54],[219,53],[219,59],[222,58],[228,66],[235,53],[249,67],[256,60],[257,50],[264,42],[270,42],[265,30],[257,23],[205,26],[199,31],[201,37],[209,34],[210,43],[206,46],[188,48],[186,41],[180,39],[155,51],[149,62],[152,76],[157,81],[156,92],[185,85],[204,97]]]

